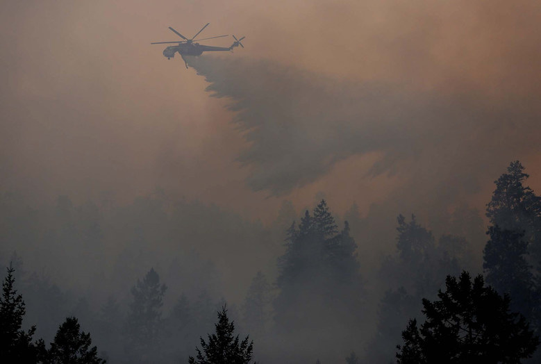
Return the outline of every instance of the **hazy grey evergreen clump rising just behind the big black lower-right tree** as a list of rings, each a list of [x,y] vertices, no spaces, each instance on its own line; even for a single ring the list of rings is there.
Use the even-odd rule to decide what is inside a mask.
[[[380,301],[376,335],[367,346],[365,359],[371,363],[392,361],[388,347],[399,342],[400,329],[419,312],[422,298],[432,299],[447,274],[460,273],[453,251],[461,249],[453,245],[465,244],[463,240],[444,235],[437,247],[432,232],[415,215],[410,222],[399,215],[397,222],[397,252],[383,261],[380,272],[390,289]]]

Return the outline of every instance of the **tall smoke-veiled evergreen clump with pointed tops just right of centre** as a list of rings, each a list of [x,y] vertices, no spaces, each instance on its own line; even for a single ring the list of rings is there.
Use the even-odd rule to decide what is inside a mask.
[[[278,335],[288,341],[286,345],[293,342],[286,337],[300,331],[315,349],[317,342],[335,338],[336,331],[354,332],[362,325],[363,283],[356,243],[347,223],[338,231],[324,200],[313,214],[306,211],[300,224],[288,230],[286,251],[278,263],[274,318]],[[340,343],[340,349],[345,350],[354,340],[344,334]],[[288,354],[295,351],[293,346],[284,350]]]

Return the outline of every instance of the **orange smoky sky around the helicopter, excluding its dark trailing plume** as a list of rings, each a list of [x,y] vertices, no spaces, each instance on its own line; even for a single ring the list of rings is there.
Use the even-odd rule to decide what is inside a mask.
[[[191,36],[207,22],[206,36],[246,35],[246,48],[223,55],[231,60],[269,60],[308,77],[463,95],[483,110],[510,110],[501,120],[516,127],[502,130],[525,141],[499,154],[498,142],[479,140],[478,152],[497,158],[480,172],[486,187],[476,199],[487,201],[492,181],[517,158],[541,189],[538,1],[25,1],[3,8],[1,190],[78,201],[109,190],[129,201],[159,185],[269,220],[283,199],[303,208],[318,192],[339,213],[353,200],[366,212],[410,181],[415,160],[392,176],[367,176],[383,149],[352,153],[279,197],[253,192],[245,183],[251,168],[235,162],[249,146],[224,108],[228,100],[209,97],[202,76],[149,44],[176,40],[167,26]],[[453,131],[437,120],[429,126],[440,127]],[[509,136],[494,133],[503,142]]]

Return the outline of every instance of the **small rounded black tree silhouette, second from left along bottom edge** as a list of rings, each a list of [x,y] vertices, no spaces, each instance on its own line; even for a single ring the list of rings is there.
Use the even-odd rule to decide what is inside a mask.
[[[60,325],[51,349],[47,355],[47,364],[103,364],[106,361],[97,356],[97,347],[90,347],[90,333],[81,331],[75,317],[67,317]]]

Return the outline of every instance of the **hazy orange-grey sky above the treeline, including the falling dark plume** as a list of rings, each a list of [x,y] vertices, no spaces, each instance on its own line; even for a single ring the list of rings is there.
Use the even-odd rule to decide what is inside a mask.
[[[221,99],[149,44],[207,22],[247,37],[199,60]],[[317,192],[482,208],[515,159],[541,189],[539,1],[6,1],[0,23],[1,190],[159,185],[266,220]]]

